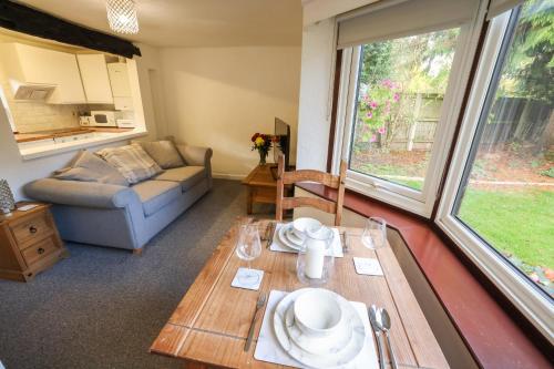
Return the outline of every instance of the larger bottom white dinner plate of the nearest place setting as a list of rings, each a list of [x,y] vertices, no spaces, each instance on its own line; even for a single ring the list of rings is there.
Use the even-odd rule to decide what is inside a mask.
[[[352,334],[349,342],[342,348],[335,347],[334,351],[329,351],[328,355],[315,355],[304,350],[298,346],[291,337],[288,335],[287,328],[285,326],[286,312],[294,304],[296,298],[311,288],[298,289],[294,293],[288,294],[277,304],[274,314],[274,329],[275,336],[279,341],[279,345],[285,351],[287,351],[294,359],[300,363],[308,366],[310,368],[335,368],[348,365],[355,360],[358,355],[363,349],[366,341],[366,328],[363,327],[363,321],[361,320],[355,308],[348,303],[343,297],[337,295],[337,299],[345,308],[343,314],[345,320],[350,322],[350,331]],[[334,337],[334,335],[331,336]]]

